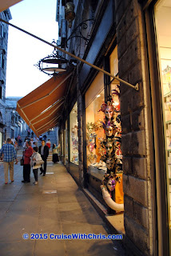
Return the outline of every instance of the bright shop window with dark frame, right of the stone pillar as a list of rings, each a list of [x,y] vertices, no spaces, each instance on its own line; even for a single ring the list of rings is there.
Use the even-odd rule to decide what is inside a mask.
[[[145,10],[153,132],[156,145],[159,252],[171,255],[171,2],[153,1]]]

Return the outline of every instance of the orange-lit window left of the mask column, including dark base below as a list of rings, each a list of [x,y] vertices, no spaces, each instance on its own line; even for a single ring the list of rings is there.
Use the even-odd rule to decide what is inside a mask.
[[[105,162],[101,162],[101,154],[105,149],[100,143],[104,138],[104,130],[101,126],[103,113],[99,111],[105,103],[104,75],[98,73],[96,78],[85,93],[85,128],[86,128],[86,159],[85,173],[88,173],[89,190],[96,195],[98,200],[105,203],[101,198],[101,180],[106,170]]]

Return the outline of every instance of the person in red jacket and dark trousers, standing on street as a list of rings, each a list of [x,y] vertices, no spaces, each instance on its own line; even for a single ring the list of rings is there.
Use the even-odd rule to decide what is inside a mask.
[[[26,150],[23,153],[24,165],[23,165],[23,180],[22,182],[30,182],[30,157],[33,154],[33,148],[31,147],[31,142],[26,142]]]

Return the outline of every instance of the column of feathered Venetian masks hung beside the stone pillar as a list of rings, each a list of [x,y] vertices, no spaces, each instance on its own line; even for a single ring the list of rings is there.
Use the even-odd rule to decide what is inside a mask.
[[[117,211],[124,210],[122,187],[122,155],[121,155],[121,114],[120,106],[116,104],[116,96],[119,96],[119,86],[113,90],[110,100],[101,105],[101,111],[105,114],[102,126],[105,137],[101,139],[101,146],[105,154],[101,161],[106,164],[106,172],[102,179],[101,190],[107,205]],[[115,190],[115,196],[112,191]]]

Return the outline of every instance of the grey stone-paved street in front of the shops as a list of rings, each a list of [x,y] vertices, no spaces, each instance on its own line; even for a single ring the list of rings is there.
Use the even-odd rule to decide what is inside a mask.
[[[109,234],[82,190],[65,166],[48,162],[38,186],[23,184],[22,166],[14,166],[14,183],[4,184],[0,162],[0,255],[1,256],[124,256],[119,241],[30,239],[30,234]],[[10,182],[10,181],[9,181]],[[28,234],[29,238],[22,238]]]

